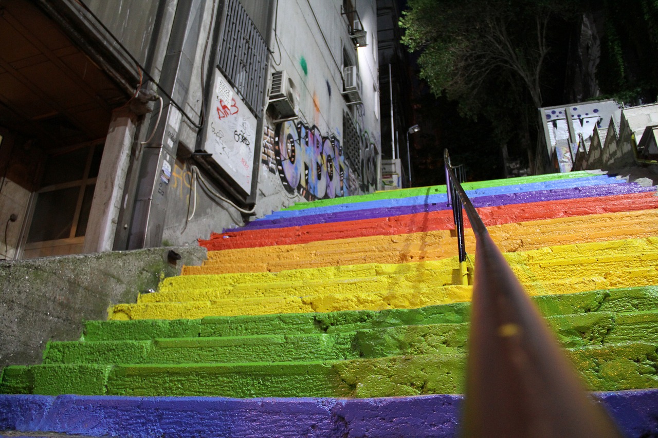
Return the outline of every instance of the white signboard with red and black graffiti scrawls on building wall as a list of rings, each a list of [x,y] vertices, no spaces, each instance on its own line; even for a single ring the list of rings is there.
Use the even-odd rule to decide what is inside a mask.
[[[257,120],[218,71],[212,99],[204,149],[245,192],[251,193]]]

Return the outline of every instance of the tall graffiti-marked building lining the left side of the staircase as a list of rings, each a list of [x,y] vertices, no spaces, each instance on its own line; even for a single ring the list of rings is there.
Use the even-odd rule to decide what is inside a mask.
[[[0,257],[185,245],[380,189],[376,7],[3,3]]]

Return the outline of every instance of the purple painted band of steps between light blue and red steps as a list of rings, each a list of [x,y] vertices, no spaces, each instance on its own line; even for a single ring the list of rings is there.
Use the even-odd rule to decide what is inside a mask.
[[[538,190],[521,193],[506,193],[503,195],[488,195],[472,198],[474,207],[495,207],[498,205],[513,205],[523,203],[534,203],[539,201],[559,201],[561,199],[578,199],[589,197],[601,197],[611,195],[625,195],[627,193],[644,193],[655,191],[656,187],[643,187],[637,183],[615,183],[605,185],[592,185],[588,187],[575,187],[569,189]],[[449,210],[445,201],[443,203],[403,205],[387,208],[370,208],[364,210],[338,211],[326,214],[309,216],[292,216],[286,218],[265,218],[249,222],[242,228],[224,229],[226,231],[241,230],[263,230],[267,228],[285,228],[293,226],[304,226],[311,224],[325,224],[327,222],[345,222],[348,220],[386,218],[390,216],[401,216],[403,214],[424,213],[437,210]]]

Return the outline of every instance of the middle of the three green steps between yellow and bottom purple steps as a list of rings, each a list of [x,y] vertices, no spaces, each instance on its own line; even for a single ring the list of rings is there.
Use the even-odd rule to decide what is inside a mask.
[[[563,347],[658,343],[658,311],[549,316]],[[188,337],[151,341],[51,341],[44,364],[201,364],[467,353],[468,323],[424,324],[307,335]]]

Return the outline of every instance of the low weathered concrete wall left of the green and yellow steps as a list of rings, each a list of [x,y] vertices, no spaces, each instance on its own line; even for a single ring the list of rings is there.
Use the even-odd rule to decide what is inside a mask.
[[[82,320],[104,320],[107,308],[135,303],[161,278],[200,264],[205,249],[169,248],[16,260],[0,264],[0,367],[41,362],[49,339],[80,337]]]

